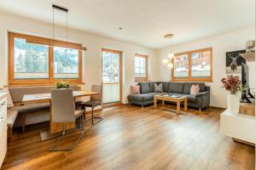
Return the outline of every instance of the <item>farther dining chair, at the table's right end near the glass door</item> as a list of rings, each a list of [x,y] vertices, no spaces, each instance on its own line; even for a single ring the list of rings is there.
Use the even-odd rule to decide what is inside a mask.
[[[100,122],[103,120],[101,116],[94,116],[94,108],[98,105],[102,105],[102,85],[96,85],[93,84],[91,86],[91,91],[98,93],[97,95],[90,96],[90,100],[86,102],[82,102],[79,104],[81,109],[84,109],[84,113],[86,111],[86,107],[91,108],[91,124],[95,125],[97,122]],[[94,122],[94,119],[97,119],[96,122]]]

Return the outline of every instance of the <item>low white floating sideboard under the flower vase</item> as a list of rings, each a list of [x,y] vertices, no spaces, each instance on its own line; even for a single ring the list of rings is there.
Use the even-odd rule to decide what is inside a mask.
[[[226,110],[220,115],[220,132],[231,138],[255,144],[255,116],[232,115]]]

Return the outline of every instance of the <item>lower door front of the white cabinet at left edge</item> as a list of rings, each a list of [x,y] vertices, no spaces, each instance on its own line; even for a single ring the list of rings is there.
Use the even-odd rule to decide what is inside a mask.
[[[0,168],[7,151],[7,119],[6,116],[0,117]]]

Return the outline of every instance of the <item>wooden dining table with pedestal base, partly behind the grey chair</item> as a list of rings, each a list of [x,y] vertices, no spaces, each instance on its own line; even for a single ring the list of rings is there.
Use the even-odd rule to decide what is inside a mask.
[[[92,91],[73,91],[74,99],[85,97],[85,96],[92,96],[98,93]],[[61,131],[63,129],[63,123],[61,122],[52,122],[52,111],[51,111],[51,96],[50,94],[26,94],[23,96],[22,103],[42,103],[42,102],[49,102],[50,109],[49,109],[49,130],[40,132],[42,141],[47,139],[52,139],[57,136],[61,135]],[[67,122],[66,123],[67,131],[72,131],[75,129],[75,122]]]

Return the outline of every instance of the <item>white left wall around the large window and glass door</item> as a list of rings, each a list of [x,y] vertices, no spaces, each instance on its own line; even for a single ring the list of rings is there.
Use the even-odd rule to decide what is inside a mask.
[[[104,26],[102,26],[102,29],[104,29]],[[8,31],[52,37],[52,25],[49,23],[0,12],[0,87],[8,84]],[[65,30],[63,28],[58,27],[55,32],[55,38],[65,39]],[[156,51],[153,49],[72,29],[68,31],[68,39],[72,42],[82,43],[88,48],[83,54],[83,82],[86,83],[83,87],[84,89],[90,89],[91,84],[100,84],[102,82],[102,48],[118,49],[123,52],[122,101],[124,103],[127,102],[126,96],[130,94],[130,85],[135,83],[135,54],[149,55],[149,79],[154,81],[155,77],[157,77],[155,71]]]

